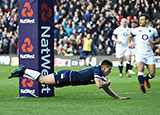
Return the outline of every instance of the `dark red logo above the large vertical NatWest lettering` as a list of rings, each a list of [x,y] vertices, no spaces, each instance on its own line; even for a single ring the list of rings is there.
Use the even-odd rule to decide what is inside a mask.
[[[41,19],[43,22],[47,21],[47,19],[52,16],[52,9],[49,8],[45,3],[41,5],[41,11]]]

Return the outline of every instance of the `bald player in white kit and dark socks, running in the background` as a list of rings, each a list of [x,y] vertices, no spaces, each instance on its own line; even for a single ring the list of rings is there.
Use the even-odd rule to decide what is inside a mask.
[[[128,48],[128,35],[131,33],[131,29],[127,27],[127,20],[123,18],[121,20],[121,25],[117,27],[112,35],[112,40],[116,42],[116,57],[118,58],[119,62],[119,71],[120,77],[122,77],[123,71],[123,57],[127,60],[126,65],[126,73],[127,76],[130,77],[128,74],[129,70],[131,71],[131,50]]]

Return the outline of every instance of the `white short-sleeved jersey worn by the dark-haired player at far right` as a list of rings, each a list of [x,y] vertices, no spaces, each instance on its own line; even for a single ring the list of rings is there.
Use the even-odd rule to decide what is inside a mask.
[[[154,57],[152,46],[149,45],[149,41],[154,41],[154,38],[158,37],[157,30],[152,28],[151,26],[147,26],[146,28],[137,27],[132,31],[131,34],[135,36],[134,37],[135,38],[135,50],[136,50],[135,55]]]

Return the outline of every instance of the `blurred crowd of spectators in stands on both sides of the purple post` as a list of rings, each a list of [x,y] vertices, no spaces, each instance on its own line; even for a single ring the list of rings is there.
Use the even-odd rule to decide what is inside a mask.
[[[139,16],[148,13],[150,26],[160,35],[159,0],[55,0],[54,53],[80,55],[82,40],[90,34],[92,55],[114,55],[111,36],[122,18],[138,24]],[[18,0],[0,0],[0,54],[17,54]],[[160,55],[160,46],[154,48]]]

